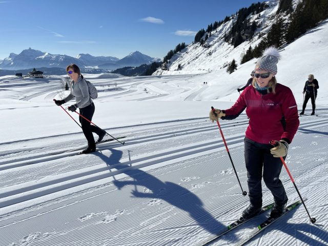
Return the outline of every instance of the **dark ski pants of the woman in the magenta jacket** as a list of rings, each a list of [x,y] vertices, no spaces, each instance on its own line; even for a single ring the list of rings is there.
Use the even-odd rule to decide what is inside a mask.
[[[251,204],[262,207],[262,175],[265,186],[271,191],[275,204],[282,206],[288,201],[279,175],[282,168],[280,158],[273,157],[270,144],[259,144],[248,138],[244,139],[245,163],[248,177],[249,198]],[[284,157],[285,158],[285,157]]]

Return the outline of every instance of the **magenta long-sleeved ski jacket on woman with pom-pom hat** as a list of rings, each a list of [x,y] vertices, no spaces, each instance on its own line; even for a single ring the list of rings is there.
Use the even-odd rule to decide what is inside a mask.
[[[290,88],[281,84],[276,85],[276,94],[255,90],[247,87],[239,96],[236,103],[227,110],[222,119],[234,119],[246,109],[249,126],[245,137],[269,144],[271,140],[285,140],[289,144],[299,126],[297,105]]]

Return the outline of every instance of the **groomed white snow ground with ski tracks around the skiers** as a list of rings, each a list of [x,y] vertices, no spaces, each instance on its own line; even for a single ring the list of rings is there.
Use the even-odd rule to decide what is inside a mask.
[[[318,116],[309,115],[309,102],[286,158],[317,222],[312,224],[300,206],[248,245],[328,245],[327,25],[286,46],[277,74],[278,82],[294,92],[299,109],[308,74],[319,81]],[[197,245],[223,230],[249,200],[208,113],[211,106],[233,105],[236,88],[247,82],[254,62],[231,75],[224,70],[147,77],[86,74],[99,91],[93,122],[112,136],[127,136],[125,145],[107,142],[88,155],[65,152],[86,145],[80,128],[52,101],[67,94],[66,76],[0,77],[0,245]],[[248,119],[243,113],[220,124],[248,191],[243,158]],[[298,200],[284,168],[280,178],[289,202]],[[262,186],[263,203],[272,202]],[[268,214],[213,245],[236,245]]]

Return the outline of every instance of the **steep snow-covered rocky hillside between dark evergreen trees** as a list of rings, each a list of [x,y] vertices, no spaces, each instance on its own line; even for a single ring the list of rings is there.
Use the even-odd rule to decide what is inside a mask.
[[[221,69],[226,71],[224,65],[230,63],[233,59],[237,61],[237,64],[240,64],[241,54],[245,53],[250,46],[254,48],[262,40],[262,34],[267,33],[270,29],[273,20],[277,17],[278,3],[279,1],[268,1],[268,8],[260,13],[250,15],[248,18],[249,23],[255,22],[259,27],[249,41],[241,43],[236,48],[224,42],[224,35],[231,30],[237,17],[231,18],[229,22],[213,30],[204,45],[201,46],[199,43],[190,44],[170,59],[168,70],[158,69],[154,75],[209,73]],[[180,69],[178,69],[179,65]]]

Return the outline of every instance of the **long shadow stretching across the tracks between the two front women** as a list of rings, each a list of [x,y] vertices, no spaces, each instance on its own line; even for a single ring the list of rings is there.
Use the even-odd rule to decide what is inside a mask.
[[[122,151],[110,149],[112,154],[107,157],[100,154],[99,157],[103,159],[108,166],[115,165],[116,170],[121,170],[122,173],[129,175],[134,180],[119,181],[114,180],[114,185],[121,189],[124,186],[132,185],[135,187],[145,187],[146,192],[132,191],[135,197],[152,198],[154,201],[164,200],[176,208],[186,211],[190,216],[209,233],[217,234],[226,229],[226,226],[218,222],[210,213],[203,208],[202,201],[188,189],[169,181],[161,181],[160,179],[150,175],[139,169],[131,169],[129,165],[120,165],[119,160],[122,157]],[[128,170],[123,170],[130,167]],[[158,199],[158,200],[155,200]],[[190,224],[193,222],[190,221]]]

